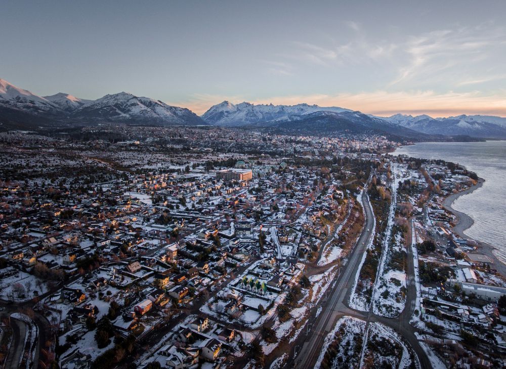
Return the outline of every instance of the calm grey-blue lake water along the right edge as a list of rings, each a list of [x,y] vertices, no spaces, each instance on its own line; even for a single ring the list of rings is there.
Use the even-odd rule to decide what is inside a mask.
[[[464,233],[495,247],[497,257],[506,262],[506,141],[420,143],[395,154],[452,161],[485,179],[483,187],[460,196],[452,207],[474,220]]]

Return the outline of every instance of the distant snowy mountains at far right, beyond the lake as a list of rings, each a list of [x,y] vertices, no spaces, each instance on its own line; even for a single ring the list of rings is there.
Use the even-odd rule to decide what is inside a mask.
[[[383,118],[389,122],[427,134],[449,136],[506,138],[506,118],[485,115],[459,115],[448,118],[432,118],[428,115],[396,114]]]

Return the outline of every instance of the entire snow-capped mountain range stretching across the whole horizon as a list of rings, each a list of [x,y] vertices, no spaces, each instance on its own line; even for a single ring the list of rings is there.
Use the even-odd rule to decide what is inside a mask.
[[[433,118],[428,115],[366,115],[340,107],[297,104],[263,105],[224,101],[200,117],[186,108],[121,92],[97,100],[58,93],[37,96],[0,79],[0,129],[32,129],[55,124],[157,124],[265,127],[305,134],[334,132],[383,132],[417,140],[435,135],[506,138],[506,118],[459,115]]]

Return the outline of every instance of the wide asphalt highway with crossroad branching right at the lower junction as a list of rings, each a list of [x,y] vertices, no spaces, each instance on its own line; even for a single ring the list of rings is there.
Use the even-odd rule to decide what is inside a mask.
[[[414,332],[416,331],[409,325],[409,320],[415,309],[416,287],[414,284],[414,266],[413,255],[411,248],[408,247],[406,273],[407,279],[407,292],[406,292],[406,308],[396,318],[386,318],[378,316],[370,311],[363,312],[351,309],[347,306],[350,290],[355,281],[355,275],[360,267],[360,262],[366,250],[366,246],[372,237],[373,226],[373,212],[369,202],[369,198],[365,191],[362,192],[362,199],[365,210],[365,226],[362,230],[357,243],[350,252],[348,262],[342,268],[343,270],[337,277],[337,282],[330,292],[330,298],[323,306],[323,309],[318,317],[312,316],[308,324],[312,324],[311,331],[308,335],[301,335],[294,345],[294,350],[291,352],[291,357],[285,364],[285,367],[296,368],[309,368],[314,367],[316,360],[322,350],[323,342],[328,333],[335,326],[336,321],[345,316],[354,316],[366,320],[367,322],[381,322],[388,327],[394,329],[400,334],[404,340],[411,346],[422,368],[430,368],[430,361],[421,348]],[[364,342],[365,344],[365,342]],[[300,350],[297,350],[297,348]]]

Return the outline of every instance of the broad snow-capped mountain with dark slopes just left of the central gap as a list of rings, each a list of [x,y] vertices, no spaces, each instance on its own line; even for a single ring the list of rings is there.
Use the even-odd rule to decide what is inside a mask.
[[[71,117],[94,121],[135,121],[139,123],[206,124],[189,109],[167,105],[159,100],[121,92],[91,101],[72,112]]]

